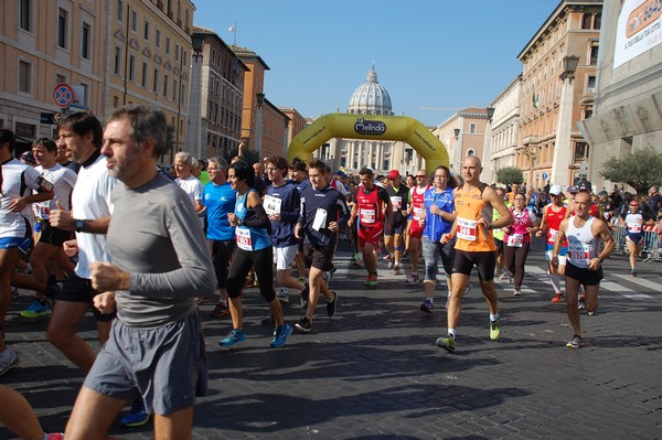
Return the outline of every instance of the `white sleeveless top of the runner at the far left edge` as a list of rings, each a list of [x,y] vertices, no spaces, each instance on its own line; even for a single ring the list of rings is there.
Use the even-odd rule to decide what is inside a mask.
[[[11,159],[2,164],[2,194],[0,195],[0,237],[25,237],[25,215],[31,212],[30,206],[23,213],[12,213],[9,204],[12,200],[30,195],[32,190],[38,190],[39,171],[34,168]]]

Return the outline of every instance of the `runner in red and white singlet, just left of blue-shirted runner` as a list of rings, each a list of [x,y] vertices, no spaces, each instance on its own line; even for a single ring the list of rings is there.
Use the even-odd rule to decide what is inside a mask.
[[[420,219],[425,216],[425,193],[430,189],[426,169],[420,169],[416,172],[416,186],[409,191],[409,204],[407,207],[409,214],[409,218],[407,219],[407,238],[409,240],[407,249],[412,259],[412,273],[407,277],[407,282],[409,283],[420,281],[420,277],[418,277],[418,260],[420,259],[420,238],[425,228],[425,222],[421,225]]]

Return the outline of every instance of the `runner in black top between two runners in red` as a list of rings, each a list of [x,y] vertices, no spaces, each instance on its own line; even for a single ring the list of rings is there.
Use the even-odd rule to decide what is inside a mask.
[[[393,206],[392,224],[384,232],[384,246],[391,258],[388,259],[388,268],[393,268],[393,275],[401,275],[399,260],[403,253],[403,233],[407,225],[407,198],[409,189],[402,184],[402,179],[397,170],[388,172],[388,181],[391,185],[386,187],[386,192],[391,197]]]

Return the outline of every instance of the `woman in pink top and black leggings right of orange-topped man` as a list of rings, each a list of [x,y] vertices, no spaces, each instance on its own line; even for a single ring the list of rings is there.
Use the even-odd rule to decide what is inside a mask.
[[[513,224],[505,228],[503,237],[503,256],[505,267],[513,277],[513,296],[522,294],[522,281],[526,257],[531,249],[531,234],[537,232],[537,217],[526,207],[526,196],[522,193],[515,195],[515,204],[510,208],[513,215]]]

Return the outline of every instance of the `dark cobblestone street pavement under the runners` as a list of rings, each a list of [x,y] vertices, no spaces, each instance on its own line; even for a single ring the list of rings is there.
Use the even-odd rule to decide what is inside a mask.
[[[418,307],[421,285],[388,275],[364,290],[365,271],[339,251],[331,288],[339,311],[328,319],[323,300],[310,334],[295,332],[269,348],[259,324],[267,312],[257,289],[245,292],[248,341],[224,350],[217,340],[229,319],[212,320],[201,308],[210,356],[210,394],[195,406],[195,439],[661,439],[662,286],[659,262],[629,276],[624,256],[606,261],[600,307],[581,316],[586,346],[572,337],[565,303],[553,304],[540,240],[528,258],[524,294],[498,281],[502,337],[488,337],[488,309],[478,282],[466,297],[458,350],[435,346],[446,331],[445,287],[435,312]],[[408,265],[408,260],[406,261]],[[408,271],[408,266],[405,266]],[[442,283],[441,283],[442,285]],[[298,298],[285,307],[293,324]],[[46,321],[25,322],[29,302],[13,301],[8,342],[21,358],[0,377],[25,395],[47,430],[63,430],[82,374],[45,340]],[[93,342],[94,322],[82,335]],[[152,423],[111,433],[152,438]],[[13,438],[0,428],[0,439]]]

